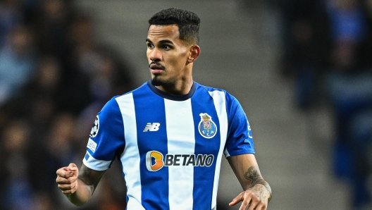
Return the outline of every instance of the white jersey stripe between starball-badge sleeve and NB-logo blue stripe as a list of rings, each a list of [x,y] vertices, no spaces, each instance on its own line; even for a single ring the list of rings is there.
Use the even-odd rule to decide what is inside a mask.
[[[140,152],[137,144],[137,124],[135,118],[135,103],[133,94],[125,94],[117,97],[120,112],[123,116],[125,125],[125,149],[121,154],[120,161],[123,166],[123,173],[128,186],[128,204],[127,209],[144,210],[141,204],[141,175],[140,175]],[[126,171],[130,173],[125,173]]]

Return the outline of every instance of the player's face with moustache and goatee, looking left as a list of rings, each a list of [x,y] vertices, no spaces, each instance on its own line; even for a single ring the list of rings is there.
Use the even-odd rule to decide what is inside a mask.
[[[190,46],[179,37],[177,25],[150,25],[147,33],[147,60],[154,85],[175,85],[190,76],[187,58]]]

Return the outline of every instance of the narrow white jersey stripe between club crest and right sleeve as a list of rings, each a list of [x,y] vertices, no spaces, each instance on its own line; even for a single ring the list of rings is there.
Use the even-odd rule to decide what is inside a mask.
[[[216,171],[214,172],[214,184],[213,184],[213,196],[212,196],[212,206],[216,206],[216,197],[218,190],[218,180],[220,178],[221,169],[221,159],[223,154],[223,148],[225,147],[226,139],[228,137],[228,113],[226,112],[226,98],[225,92],[213,91],[209,92],[213,98],[214,106],[216,106],[216,112],[218,115],[218,122],[220,123],[220,135],[221,135],[221,146],[220,151],[216,159]]]

